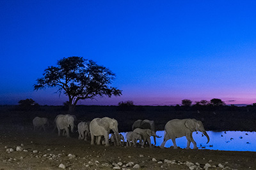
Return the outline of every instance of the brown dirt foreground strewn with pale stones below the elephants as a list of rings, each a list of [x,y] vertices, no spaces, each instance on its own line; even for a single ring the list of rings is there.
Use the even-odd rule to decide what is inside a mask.
[[[18,125],[0,129],[0,169],[256,169],[255,152],[106,147],[77,139],[78,132],[65,138]]]

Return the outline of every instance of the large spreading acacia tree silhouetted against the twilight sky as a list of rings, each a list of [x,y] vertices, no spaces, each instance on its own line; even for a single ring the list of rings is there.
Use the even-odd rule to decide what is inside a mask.
[[[95,99],[97,96],[121,96],[122,91],[109,84],[115,74],[108,68],[99,66],[93,60],[83,57],[67,57],[58,60],[57,67],[49,66],[44,77],[38,78],[34,90],[57,87],[57,92],[68,96],[68,108],[72,113],[79,100]]]

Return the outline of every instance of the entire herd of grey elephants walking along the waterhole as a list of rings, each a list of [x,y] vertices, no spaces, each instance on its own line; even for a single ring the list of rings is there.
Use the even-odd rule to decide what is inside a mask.
[[[70,137],[69,129],[71,132],[74,132],[74,120],[76,117],[74,115],[57,115],[54,122],[56,128],[58,129],[58,136]],[[45,125],[49,125],[49,120],[47,118],[35,117],[33,119],[34,131],[36,129],[44,129]],[[91,138],[91,145],[95,143],[97,145],[106,145],[109,146],[109,141],[115,146],[124,146],[124,136],[118,132],[118,122],[114,118],[104,117],[104,118],[94,118],[91,122],[79,122],[77,124],[77,131],[79,133],[78,139],[84,139],[87,141],[88,138]],[[111,138],[109,139],[109,132],[113,131]],[[190,143],[193,143],[193,148],[196,149],[196,142],[193,139],[192,133],[195,131],[200,131],[207,137],[207,143],[209,143],[209,136],[204,129],[204,125],[201,121],[195,119],[173,119],[166,123],[164,127],[164,139],[160,148],[164,148],[166,141],[172,139],[174,148],[177,148],[176,138],[186,136],[188,140],[187,149],[189,149]],[[153,120],[136,120],[132,124],[132,131],[127,132],[126,146],[137,146],[141,145],[141,148],[145,145],[149,145],[151,148],[150,137],[153,136],[154,145],[156,145],[156,138],[161,138],[156,134],[156,125]],[[139,143],[137,141],[139,140]],[[122,141],[122,143],[121,143]]]

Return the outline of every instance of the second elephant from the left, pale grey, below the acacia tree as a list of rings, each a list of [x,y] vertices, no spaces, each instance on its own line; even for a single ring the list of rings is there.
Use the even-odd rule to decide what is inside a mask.
[[[69,138],[69,129],[68,127],[71,127],[71,132],[74,131],[74,117],[72,115],[57,115],[55,118],[56,127],[58,128],[58,136],[60,136],[60,131],[65,129],[63,131],[63,136],[66,132],[67,138]]]

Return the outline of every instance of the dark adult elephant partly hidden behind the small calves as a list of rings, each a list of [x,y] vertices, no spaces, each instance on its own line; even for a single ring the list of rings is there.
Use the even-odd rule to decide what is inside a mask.
[[[151,131],[154,131],[156,133],[156,125],[154,120],[136,120],[133,124],[132,124],[132,131],[134,131],[134,129],[150,129]],[[153,137],[154,138],[154,145],[156,145],[156,136]]]

